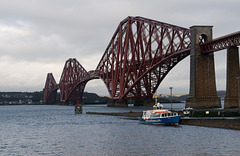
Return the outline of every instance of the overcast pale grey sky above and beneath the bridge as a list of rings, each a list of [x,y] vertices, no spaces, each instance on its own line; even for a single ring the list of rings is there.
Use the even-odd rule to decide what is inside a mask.
[[[68,58],[96,68],[119,22],[142,16],[189,28],[212,25],[213,37],[240,30],[237,0],[0,0],[0,91],[40,91],[47,73],[57,82]],[[226,51],[215,53],[217,89],[226,88]],[[189,92],[189,57],[158,93]],[[85,91],[107,95],[101,80]]]

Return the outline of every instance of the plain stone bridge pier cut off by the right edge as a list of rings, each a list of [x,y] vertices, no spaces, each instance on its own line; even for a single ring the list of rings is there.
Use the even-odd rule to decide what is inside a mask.
[[[238,108],[239,54],[238,47],[227,49],[227,86],[224,108]]]

